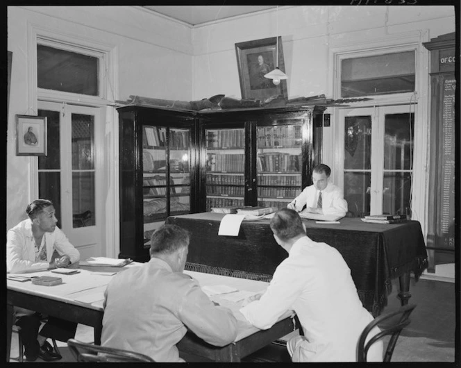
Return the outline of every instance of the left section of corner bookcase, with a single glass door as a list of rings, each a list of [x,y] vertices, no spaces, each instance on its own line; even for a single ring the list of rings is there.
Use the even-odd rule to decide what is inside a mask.
[[[149,260],[153,231],[197,212],[196,119],[190,112],[119,108],[120,253]]]

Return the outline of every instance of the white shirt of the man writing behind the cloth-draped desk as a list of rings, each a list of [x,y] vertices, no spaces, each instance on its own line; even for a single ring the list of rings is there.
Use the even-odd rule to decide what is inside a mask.
[[[309,185],[290,204],[296,208],[296,211],[300,212],[304,206],[317,208],[318,198],[319,191],[317,188],[314,185]],[[321,199],[324,215],[346,216],[347,202],[340,187],[328,183],[326,188],[321,191]]]

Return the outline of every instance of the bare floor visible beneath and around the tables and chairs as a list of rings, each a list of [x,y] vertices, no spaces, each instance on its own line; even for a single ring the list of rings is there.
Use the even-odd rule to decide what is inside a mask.
[[[393,283],[386,311],[399,308],[397,284]],[[392,356],[392,362],[454,362],[455,361],[455,283],[420,279],[411,280],[410,303],[416,303],[411,324],[399,337]],[[441,303],[440,301],[443,301]],[[459,301],[458,301],[459,302]],[[459,322],[459,321],[458,321]],[[458,330],[459,331],[459,330]],[[93,342],[93,329],[78,325],[76,339]],[[64,342],[58,342],[62,360],[75,362]],[[459,352],[458,352],[459,355]],[[17,334],[12,334],[10,362],[17,362]],[[271,344],[261,349],[246,362],[289,362],[285,346]],[[37,359],[36,362],[43,362]]]

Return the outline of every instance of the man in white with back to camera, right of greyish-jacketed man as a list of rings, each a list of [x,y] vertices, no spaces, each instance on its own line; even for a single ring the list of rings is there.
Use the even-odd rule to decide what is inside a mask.
[[[373,316],[362,306],[340,252],[310,240],[294,210],[278,210],[270,226],[288,258],[276,268],[265,293],[249,298],[240,312],[264,330],[294,310],[304,335],[287,342],[293,362],[355,362],[358,339]],[[383,342],[372,345],[367,357],[383,361]]]

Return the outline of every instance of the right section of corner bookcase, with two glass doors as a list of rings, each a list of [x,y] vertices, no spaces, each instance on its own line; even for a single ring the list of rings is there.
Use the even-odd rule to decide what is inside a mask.
[[[324,108],[202,113],[201,211],[284,208],[321,160]]]

